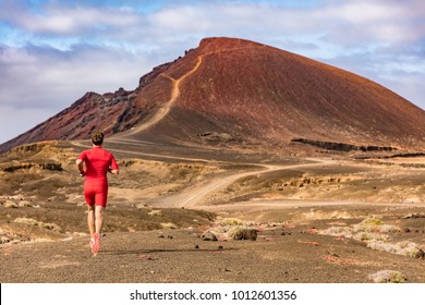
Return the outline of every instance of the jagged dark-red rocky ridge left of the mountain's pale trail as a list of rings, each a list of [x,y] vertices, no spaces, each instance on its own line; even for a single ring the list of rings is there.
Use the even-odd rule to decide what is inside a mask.
[[[0,152],[15,146],[52,139],[85,139],[95,130],[112,135],[130,130],[147,115],[155,102],[138,103],[139,94],[168,68],[169,63],[155,68],[139,80],[134,90],[119,88],[114,93],[86,93],[69,108],[38,124],[26,133],[0,145]]]

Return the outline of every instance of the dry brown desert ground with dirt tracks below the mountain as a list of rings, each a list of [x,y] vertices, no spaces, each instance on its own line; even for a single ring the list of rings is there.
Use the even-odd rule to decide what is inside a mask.
[[[75,168],[86,147],[47,142],[0,157],[1,282],[425,282],[421,155],[111,138],[121,172],[109,176],[94,257]]]

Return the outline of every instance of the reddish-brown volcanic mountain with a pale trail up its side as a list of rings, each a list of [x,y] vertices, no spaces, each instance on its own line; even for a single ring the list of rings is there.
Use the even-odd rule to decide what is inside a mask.
[[[425,111],[397,94],[335,66],[234,38],[203,39],[141,77],[134,90],[87,93],[0,151],[84,139],[95,129],[183,146],[301,142],[425,148]]]

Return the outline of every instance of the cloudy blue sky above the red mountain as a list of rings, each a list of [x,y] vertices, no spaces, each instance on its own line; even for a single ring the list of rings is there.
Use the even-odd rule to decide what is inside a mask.
[[[205,37],[266,44],[425,109],[423,0],[0,0],[0,143],[87,91],[127,90]]]

